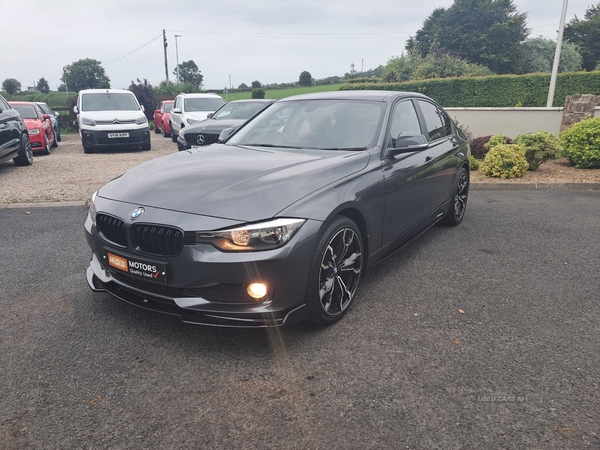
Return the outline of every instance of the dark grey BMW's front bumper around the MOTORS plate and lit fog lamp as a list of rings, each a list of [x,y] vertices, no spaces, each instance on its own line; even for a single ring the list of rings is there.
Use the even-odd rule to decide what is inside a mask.
[[[89,214],[84,227],[92,249],[87,281],[95,292],[209,326],[277,327],[308,318],[304,293],[318,222],[305,223],[287,246],[272,251],[233,254],[207,244],[192,244],[171,258],[148,257],[132,247],[112,246],[98,236]],[[165,264],[169,268],[166,282],[119,272],[107,263],[108,252]],[[270,286],[268,297],[261,302],[240,300],[246,286],[257,281]]]

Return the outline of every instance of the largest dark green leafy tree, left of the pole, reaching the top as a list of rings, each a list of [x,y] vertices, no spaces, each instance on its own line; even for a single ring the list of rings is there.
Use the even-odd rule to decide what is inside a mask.
[[[406,50],[425,57],[446,49],[496,73],[511,73],[519,45],[529,34],[526,20],[513,0],[454,0],[447,9],[433,11]]]

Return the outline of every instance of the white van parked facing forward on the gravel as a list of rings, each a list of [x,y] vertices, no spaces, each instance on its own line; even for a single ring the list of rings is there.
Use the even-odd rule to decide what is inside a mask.
[[[79,136],[85,153],[93,153],[95,148],[151,148],[150,129],[144,107],[131,91],[79,91],[73,111],[77,114]]]

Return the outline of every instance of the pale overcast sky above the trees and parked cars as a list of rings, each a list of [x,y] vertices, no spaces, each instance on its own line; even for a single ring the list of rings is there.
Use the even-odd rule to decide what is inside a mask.
[[[0,0],[0,82],[62,83],[63,67],[100,61],[112,88],[170,81],[193,60],[205,89],[343,76],[399,56],[434,9],[454,0]],[[598,0],[569,0],[566,22]],[[530,37],[556,40],[563,0],[513,0]],[[12,19],[11,19],[12,18]],[[175,38],[175,35],[180,37]]]

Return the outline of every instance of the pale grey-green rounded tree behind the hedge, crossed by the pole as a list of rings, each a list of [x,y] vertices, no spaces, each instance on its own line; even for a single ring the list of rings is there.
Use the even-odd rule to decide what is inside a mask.
[[[534,72],[552,72],[556,42],[543,37],[527,39],[521,44],[519,60],[515,72],[518,74]],[[571,42],[563,42],[559,72],[576,72],[581,70],[582,57],[577,46]]]

